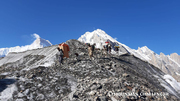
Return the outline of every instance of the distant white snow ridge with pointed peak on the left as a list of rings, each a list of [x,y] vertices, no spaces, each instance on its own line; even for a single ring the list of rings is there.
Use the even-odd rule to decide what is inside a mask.
[[[10,48],[0,48],[0,57],[6,56],[9,52],[23,52],[26,50],[43,48],[43,47],[52,45],[51,42],[40,38],[39,35],[34,34],[34,36],[38,36],[38,37],[36,37],[36,40],[31,45],[16,46],[16,47],[10,47]]]

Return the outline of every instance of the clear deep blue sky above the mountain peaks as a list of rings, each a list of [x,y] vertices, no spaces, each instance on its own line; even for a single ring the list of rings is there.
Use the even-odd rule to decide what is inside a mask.
[[[180,0],[0,0],[0,48],[102,29],[130,48],[180,54]]]

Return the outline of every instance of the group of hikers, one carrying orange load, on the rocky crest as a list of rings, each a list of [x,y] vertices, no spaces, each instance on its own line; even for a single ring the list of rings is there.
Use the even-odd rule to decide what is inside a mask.
[[[111,54],[111,50],[112,50],[112,45],[110,42],[105,42],[106,44],[103,45],[103,53],[105,56],[107,56],[107,54]],[[90,43],[86,43],[86,45],[88,46],[88,55],[90,58],[94,57],[93,54],[94,54],[94,51],[95,51],[95,47],[96,47],[96,44],[90,44]],[[69,58],[69,46],[65,43],[61,43],[58,45],[58,56],[59,56],[59,63],[60,65],[63,63],[63,58]],[[114,50],[116,53],[118,53],[119,51],[119,46],[116,45],[114,46]],[[78,56],[78,53],[75,53],[76,56]]]

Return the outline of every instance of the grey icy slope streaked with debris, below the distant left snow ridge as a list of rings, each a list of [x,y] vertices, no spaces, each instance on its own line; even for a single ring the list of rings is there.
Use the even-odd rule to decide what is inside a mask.
[[[51,46],[51,47],[45,47],[45,48],[39,48],[39,49],[33,49],[33,50],[28,50],[24,52],[11,52],[9,53],[5,58],[0,60],[0,66],[3,64],[8,64],[8,63],[14,63],[12,67],[20,67],[19,64],[22,64],[24,62],[24,66],[26,69],[38,67],[38,66],[50,66],[51,64],[54,63],[54,58],[55,54],[57,54],[57,45]],[[26,59],[26,56],[33,56],[30,59]],[[37,59],[40,59],[37,61]],[[35,60],[35,61],[34,61]],[[33,64],[31,63],[33,62]]]

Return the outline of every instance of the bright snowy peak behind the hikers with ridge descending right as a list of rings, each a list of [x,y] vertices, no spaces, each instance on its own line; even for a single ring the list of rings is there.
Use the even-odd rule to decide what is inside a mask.
[[[180,81],[180,75],[178,75],[180,74],[180,56],[176,53],[171,54],[170,56],[164,55],[163,53],[158,55],[147,46],[138,48],[137,50],[131,49],[125,44],[113,39],[101,29],[94,30],[93,32],[86,32],[78,40],[84,43],[96,43],[97,48],[102,48],[106,41],[109,41],[113,46],[119,45],[121,47],[120,52],[133,54],[134,56],[159,67],[163,72],[172,75],[176,80]]]

